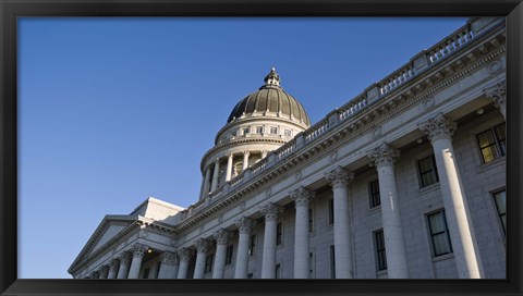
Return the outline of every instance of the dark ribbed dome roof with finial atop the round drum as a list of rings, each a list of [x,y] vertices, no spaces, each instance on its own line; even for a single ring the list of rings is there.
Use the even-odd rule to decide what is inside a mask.
[[[273,67],[264,81],[264,86],[234,106],[227,120],[228,123],[259,113],[288,119],[311,126],[311,120],[303,106],[280,87],[280,76]]]

